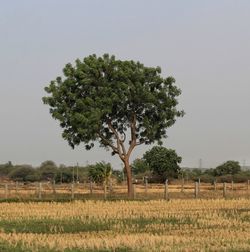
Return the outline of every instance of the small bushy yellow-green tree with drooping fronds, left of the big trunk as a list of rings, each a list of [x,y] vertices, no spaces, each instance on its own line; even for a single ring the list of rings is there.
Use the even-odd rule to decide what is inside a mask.
[[[112,167],[108,163],[99,162],[95,165],[91,165],[89,169],[89,178],[96,183],[106,183],[109,181],[112,174]]]

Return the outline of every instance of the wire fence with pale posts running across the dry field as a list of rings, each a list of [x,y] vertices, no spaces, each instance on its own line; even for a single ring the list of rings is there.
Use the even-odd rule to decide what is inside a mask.
[[[175,183],[133,184],[133,199],[217,199],[250,198],[250,183],[201,183],[176,181]],[[0,183],[0,199],[127,199],[126,184],[98,185],[95,183],[55,184],[51,182]]]

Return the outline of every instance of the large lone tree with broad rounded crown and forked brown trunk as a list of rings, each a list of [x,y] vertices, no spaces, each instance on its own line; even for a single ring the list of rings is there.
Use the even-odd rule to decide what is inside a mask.
[[[119,155],[132,196],[132,151],[141,144],[160,144],[166,128],[184,114],[176,108],[181,91],[174,78],[161,77],[160,67],[108,54],[77,59],[63,73],[45,87],[49,96],[43,97],[64,129],[62,137],[72,148],[83,142],[89,150],[99,141]]]

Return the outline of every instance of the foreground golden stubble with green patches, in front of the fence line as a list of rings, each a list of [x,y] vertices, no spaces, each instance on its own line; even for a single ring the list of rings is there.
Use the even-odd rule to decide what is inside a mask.
[[[0,230],[0,251],[250,251],[250,200],[5,202]]]

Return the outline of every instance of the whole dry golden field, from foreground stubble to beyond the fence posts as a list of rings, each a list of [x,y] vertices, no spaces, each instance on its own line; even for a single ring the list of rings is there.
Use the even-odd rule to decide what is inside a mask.
[[[194,189],[0,184],[0,251],[250,251],[249,185]]]

